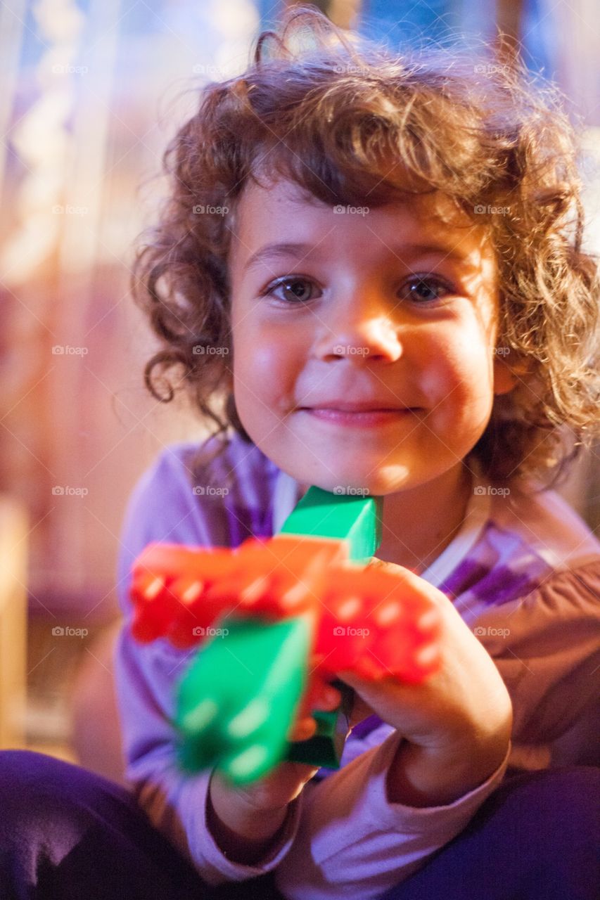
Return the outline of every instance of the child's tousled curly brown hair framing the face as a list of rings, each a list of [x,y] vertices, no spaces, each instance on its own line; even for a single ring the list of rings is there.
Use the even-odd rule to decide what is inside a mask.
[[[517,378],[469,456],[493,482],[558,482],[591,443],[600,400],[600,285],[582,249],[577,151],[558,89],[532,85],[519,62],[432,47],[393,56],[314,10],[287,14],[243,75],[200,89],[165,153],[170,193],[133,273],[161,344],[150,392],[170,401],[176,368],[215,437],[232,427],[250,441],[232,396],[227,255],[237,202],[261,170],[330,204],[440,191],[493,240],[496,350]],[[390,157],[401,163],[391,173]]]

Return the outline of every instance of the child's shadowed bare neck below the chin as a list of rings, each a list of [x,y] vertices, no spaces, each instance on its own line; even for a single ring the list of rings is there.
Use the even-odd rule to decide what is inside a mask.
[[[424,572],[458,534],[473,490],[462,464],[427,484],[387,494],[377,559]]]

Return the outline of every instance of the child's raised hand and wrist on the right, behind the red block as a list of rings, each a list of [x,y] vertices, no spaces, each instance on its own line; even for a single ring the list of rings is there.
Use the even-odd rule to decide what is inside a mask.
[[[375,712],[405,738],[388,776],[393,802],[450,803],[503,761],[512,728],[511,700],[495,663],[450,599],[402,566],[372,564],[392,568],[402,575],[406,591],[425,594],[439,608],[441,666],[418,685],[337,672],[359,697],[350,725]]]

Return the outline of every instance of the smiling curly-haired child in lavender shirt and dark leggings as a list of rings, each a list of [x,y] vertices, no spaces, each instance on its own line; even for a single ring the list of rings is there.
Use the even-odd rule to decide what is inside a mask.
[[[9,896],[595,896],[597,770],[556,768],[564,735],[571,758],[585,750],[600,582],[598,542],[548,490],[598,397],[570,130],[552,94],[501,69],[358,47],[290,16],[169,148],[172,194],[138,267],[163,344],[146,380],[168,400],[156,366],[177,365],[220,430],[166,448],[126,516],[115,664],[139,808],[4,754],[30,797],[27,771],[60,779],[68,834],[60,852],[31,828],[24,856],[9,843]],[[356,691],[341,770],[186,779],[169,718],[190,657],[132,640],[132,561],[153,540],[271,536],[311,484],[385,496],[373,564],[439,608],[441,671],[418,687],[339,673]]]

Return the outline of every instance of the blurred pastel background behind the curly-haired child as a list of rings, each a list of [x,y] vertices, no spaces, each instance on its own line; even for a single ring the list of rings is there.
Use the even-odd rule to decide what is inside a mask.
[[[121,780],[110,648],[132,486],[162,446],[202,437],[152,401],[150,335],[129,294],[160,156],[194,88],[243,70],[283,0],[7,0],[0,6],[0,747]],[[323,0],[342,28],[520,49],[586,129],[588,242],[600,247],[595,0]],[[598,524],[597,453],[562,492]],[[104,723],[104,725],[103,725]],[[103,727],[101,727],[103,725]],[[114,725],[116,727],[116,725]]]

